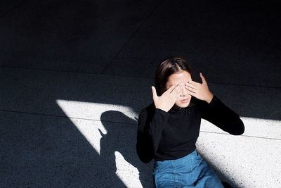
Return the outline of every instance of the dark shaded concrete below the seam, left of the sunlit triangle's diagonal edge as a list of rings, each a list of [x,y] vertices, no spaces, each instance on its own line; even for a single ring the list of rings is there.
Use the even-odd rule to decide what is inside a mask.
[[[6,112],[0,187],[126,187],[66,115]]]

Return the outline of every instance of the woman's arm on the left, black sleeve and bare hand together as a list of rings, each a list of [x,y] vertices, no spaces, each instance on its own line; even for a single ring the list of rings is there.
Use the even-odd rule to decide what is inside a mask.
[[[150,162],[157,151],[162,130],[169,117],[167,112],[174,106],[182,88],[183,84],[174,84],[158,96],[155,87],[152,87],[153,104],[141,111],[138,117],[136,149],[144,163]]]

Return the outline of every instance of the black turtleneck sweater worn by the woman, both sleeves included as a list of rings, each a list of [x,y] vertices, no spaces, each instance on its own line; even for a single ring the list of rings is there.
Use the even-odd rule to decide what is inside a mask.
[[[244,124],[239,115],[223,104],[216,96],[210,104],[192,97],[190,105],[169,112],[155,108],[154,104],[144,108],[138,117],[136,149],[143,163],[181,158],[195,150],[199,136],[201,118],[222,130],[239,135]]]

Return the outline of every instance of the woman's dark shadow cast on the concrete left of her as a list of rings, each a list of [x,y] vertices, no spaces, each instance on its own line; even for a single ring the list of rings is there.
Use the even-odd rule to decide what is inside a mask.
[[[108,121],[113,119],[114,121]],[[143,187],[152,187],[152,163],[142,163],[136,154],[136,120],[127,117],[119,111],[105,111],[100,120],[107,130],[100,139],[100,158],[110,169],[107,172],[115,176],[117,163],[115,152],[118,151],[128,163],[138,169],[139,180]],[[120,120],[125,123],[120,123]],[[107,174],[110,176],[110,174]]]

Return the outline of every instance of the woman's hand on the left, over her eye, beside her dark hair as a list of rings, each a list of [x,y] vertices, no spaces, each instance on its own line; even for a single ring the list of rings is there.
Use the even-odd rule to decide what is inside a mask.
[[[161,96],[158,96],[155,87],[152,86],[152,98],[155,107],[168,112],[174,106],[176,100],[181,97],[180,92],[182,88],[183,84],[172,85]]]

